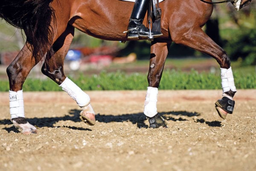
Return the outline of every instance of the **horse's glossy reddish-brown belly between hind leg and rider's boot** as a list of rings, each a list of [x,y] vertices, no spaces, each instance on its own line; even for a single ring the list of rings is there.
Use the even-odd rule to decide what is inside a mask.
[[[100,39],[123,40],[126,37],[133,3],[110,0],[73,3],[70,24],[80,31]],[[124,3],[127,4],[124,8]],[[75,7],[76,6],[76,7]]]

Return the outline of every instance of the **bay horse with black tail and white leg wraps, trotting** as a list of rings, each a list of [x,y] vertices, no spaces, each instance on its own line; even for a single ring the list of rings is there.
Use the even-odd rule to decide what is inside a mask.
[[[204,1],[204,2],[203,2]],[[230,0],[240,9],[251,0]],[[218,115],[225,119],[233,112],[236,93],[230,59],[226,52],[202,30],[209,20],[213,6],[211,0],[164,0],[161,32],[163,36],[151,42],[148,70],[148,90],[144,114],[149,127],[167,127],[157,114],[157,93],[163,73],[168,47],[172,42],[185,45],[212,56],[221,67],[223,97],[216,101]],[[27,122],[23,105],[23,83],[30,70],[44,61],[42,73],[55,81],[81,107],[80,118],[89,125],[95,124],[95,113],[90,97],[64,74],[64,58],[69,50],[75,28],[90,36],[128,41],[129,17],[134,3],[121,0],[1,0],[0,17],[11,25],[23,29],[26,43],[7,67],[10,87],[10,114],[14,126],[23,134],[37,133]],[[147,20],[144,20],[147,24]]]

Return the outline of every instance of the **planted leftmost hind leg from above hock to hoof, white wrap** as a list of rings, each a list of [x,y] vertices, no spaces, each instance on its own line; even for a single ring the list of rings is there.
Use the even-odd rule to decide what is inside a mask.
[[[25,118],[23,102],[23,83],[32,67],[37,64],[32,58],[31,51],[26,44],[12,63],[7,67],[6,72],[9,78],[9,100],[11,121],[15,127],[22,130],[23,134],[37,133],[35,126],[31,125]]]

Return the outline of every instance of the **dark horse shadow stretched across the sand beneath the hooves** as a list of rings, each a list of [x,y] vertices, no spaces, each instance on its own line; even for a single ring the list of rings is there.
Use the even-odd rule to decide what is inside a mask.
[[[27,118],[27,121],[36,127],[56,127],[54,126],[55,123],[58,121],[73,121],[73,122],[81,122],[79,119],[79,113],[81,110],[71,109],[69,111],[70,115],[65,115],[63,117],[44,117],[44,118]],[[198,112],[187,112],[187,111],[171,111],[171,112],[159,112],[159,114],[165,118],[167,121],[188,121],[189,118],[194,116],[200,116]],[[177,118],[180,116],[179,118]],[[181,117],[183,116],[183,117]],[[221,127],[221,122],[219,121],[205,121],[203,118],[201,119],[194,119],[196,123],[206,123],[208,126],[211,127]],[[103,123],[110,123],[110,122],[131,122],[136,124],[138,128],[148,128],[148,125],[145,124],[145,120],[147,120],[146,116],[143,112],[139,113],[129,113],[129,114],[122,114],[122,115],[96,115],[96,121],[103,122]],[[1,125],[12,125],[12,122],[9,119],[0,120]],[[85,131],[92,131],[88,128],[76,127],[76,126],[57,126],[57,127],[66,127],[75,130],[85,130]],[[14,126],[12,127],[5,127],[3,128],[8,132],[19,132]]]

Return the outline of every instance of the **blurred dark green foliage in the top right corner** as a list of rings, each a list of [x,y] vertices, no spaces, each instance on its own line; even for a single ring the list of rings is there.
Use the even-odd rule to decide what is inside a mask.
[[[236,24],[237,29],[233,36],[226,40],[225,50],[232,60],[241,61],[242,65],[256,64],[256,3],[252,1],[249,6],[239,12],[231,8],[228,14]]]

